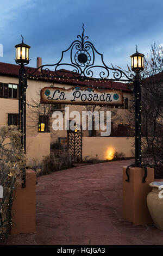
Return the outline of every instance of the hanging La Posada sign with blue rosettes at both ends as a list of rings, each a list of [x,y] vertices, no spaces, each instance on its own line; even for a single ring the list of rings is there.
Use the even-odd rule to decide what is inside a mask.
[[[89,87],[45,87],[41,103],[76,105],[122,105],[123,94],[118,90],[98,90]]]

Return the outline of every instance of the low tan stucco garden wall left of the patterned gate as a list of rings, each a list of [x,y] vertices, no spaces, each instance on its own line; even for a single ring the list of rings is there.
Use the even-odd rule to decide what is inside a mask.
[[[50,154],[51,134],[38,132],[35,136],[27,136],[27,164],[42,162],[42,157]]]

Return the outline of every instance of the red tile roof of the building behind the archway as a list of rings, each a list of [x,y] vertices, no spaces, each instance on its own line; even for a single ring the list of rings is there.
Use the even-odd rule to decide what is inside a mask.
[[[26,69],[29,68],[28,66]],[[11,76],[11,77],[18,77],[18,70],[20,69],[19,65],[9,64],[9,63],[3,63],[0,62],[0,75],[4,76]],[[30,68],[31,72],[35,70],[35,68]],[[65,72],[65,76],[72,77],[72,72],[68,70],[62,69],[61,71]],[[34,75],[40,75],[41,73],[39,71],[35,72]],[[51,75],[55,76],[55,72],[51,71]],[[30,76],[29,76],[30,79]],[[37,77],[37,80],[43,80],[43,81],[49,81],[49,82],[57,82],[57,83],[64,83],[64,84],[72,84],[74,86],[93,86],[93,87],[103,87],[103,88],[111,88],[111,89],[118,89],[122,90],[123,92],[131,92],[131,90],[128,88],[127,83],[121,83],[121,82],[115,82],[115,81],[105,81],[105,80],[97,80],[94,78],[88,78],[88,80],[80,81],[80,80],[72,80],[68,78],[39,78]]]

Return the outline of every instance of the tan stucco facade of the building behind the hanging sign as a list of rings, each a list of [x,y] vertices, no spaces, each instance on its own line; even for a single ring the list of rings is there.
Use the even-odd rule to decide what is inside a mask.
[[[8,77],[8,76],[0,76],[0,82],[17,84],[18,78]],[[27,103],[30,103],[34,106],[39,104],[40,103],[40,89],[42,89],[43,87],[51,86],[51,85],[53,85],[55,87],[63,87],[63,86],[66,88],[71,87],[70,84],[66,85],[66,84],[59,84],[59,83],[46,82],[46,81],[28,80]],[[97,87],[98,87],[98,83],[97,83]],[[132,95],[130,92],[123,92],[123,96],[128,97],[128,99],[132,98]],[[76,105],[67,105],[67,106],[70,107],[70,112],[74,111],[74,110],[79,111],[80,113],[82,111],[86,111],[85,106],[79,106],[79,105],[77,105],[77,106]],[[1,98],[0,108],[1,108],[0,126],[8,125],[8,113],[18,113],[18,100]],[[114,109],[108,107],[108,110],[113,111]],[[26,130],[27,136],[37,135],[37,132],[38,132],[37,123],[39,121],[39,115],[34,114],[35,111],[36,111],[36,108],[31,108],[30,106],[27,106],[27,130]],[[114,121],[114,123],[116,122],[116,124],[118,124],[121,122],[121,120],[117,120],[118,115],[120,115],[120,117],[123,119],[124,115],[126,115],[128,110],[127,109],[115,109],[115,111],[117,111],[117,114],[115,115],[115,117],[112,118],[111,121]],[[70,118],[70,119],[72,119],[72,118]],[[58,137],[67,137],[67,131],[65,131],[65,130],[64,131],[53,131],[53,129],[52,129],[53,120],[54,119],[52,118],[52,115],[51,115],[51,118],[50,118],[51,142],[56,141],[58,139]],[[88,136],[89,132],[83,131],[83,135]]]

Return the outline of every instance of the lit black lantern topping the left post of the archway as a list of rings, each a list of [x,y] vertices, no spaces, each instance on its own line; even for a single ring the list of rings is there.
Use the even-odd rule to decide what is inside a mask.
[[[24,44],[23,36],[22,36],[22,43],[15,45],[15,48],[16,48],[16,63],[28,64],[29,63],[29,48],[30,48],[30,46]]]

